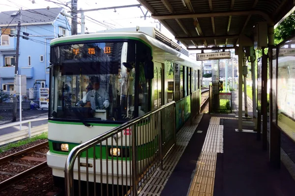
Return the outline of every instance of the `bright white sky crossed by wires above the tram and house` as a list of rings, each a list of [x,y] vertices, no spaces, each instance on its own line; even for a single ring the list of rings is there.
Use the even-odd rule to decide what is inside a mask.
[[[66,4],[70,0],[51,0],[57,3]],[[60,7],[61,5],[48,2],[47,0],[0,0],[0,12],[2,11],[11,11],[22,9],[37,9],[37,8],[46,8],[49,7]],[[78,9],[83,8],[93,9],[93,8],[103,8],[103,7],[114,7],[121,5],[134,5],[140,4],[137,0],[78,0]],[[70,3],[68,4],[70,7]],[[69,11],[70,8],[62,6]],[[144,13],[146,9],[141,6]],[[157,20],[154,20],[150,17],[148,12],[146,20],[144,19],[144,13],[138,7],[130,8],[120,8],[120,9],[109,9],[109,10],[99,10],[99,11],[90,11],[85,12],[86,20],[85,27],[88,29],[85,32],[96,32],[98,30],[105,30],[110,28],[128,28],[128,27],[156,27],[159,28],[159,23]],[[69,13],[68,13],[69,14]],[[96,21],[102,23],[99,25],[98,22],[91,20],[87,16],[95,19]],[[78,17],[81,17],[79,14]],[[69,19],[70,20],[70,19]],[[78,22],[81,22],[81,19],[78,18]],[[106,27],[107,26],[107,27]],[[170,39],[174,39],[172,33],[170,33],[166,28],[161,27],[162,33],[168,36]],[[78,32],[81,32],[81,25],[78,25]]]

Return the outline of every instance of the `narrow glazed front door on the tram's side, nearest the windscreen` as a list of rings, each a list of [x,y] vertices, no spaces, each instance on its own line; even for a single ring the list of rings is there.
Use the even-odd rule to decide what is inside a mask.
[[[163,64],[159,62],[154,63],[154,78],[153,78],[153,85],[154,85],[154,109],[159,108],[163,105],[163,96],[164,92],[164,77],[163,77]]]

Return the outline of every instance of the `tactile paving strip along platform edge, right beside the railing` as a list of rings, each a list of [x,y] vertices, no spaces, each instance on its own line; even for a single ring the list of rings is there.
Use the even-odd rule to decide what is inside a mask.
[[[160,196],[165,184],[167,183],[172,171],[177,165],[184,149],[186,148],[189,140],[196,131],[203,114],[197,116],[192,125],[190,121],[178,131],[176,138],[176,147],[169,152],[167,157],[163,162],[163,170],[159,168],[153,173],[153,175],[148,180],[147,184],[140,191],[139,196]]]

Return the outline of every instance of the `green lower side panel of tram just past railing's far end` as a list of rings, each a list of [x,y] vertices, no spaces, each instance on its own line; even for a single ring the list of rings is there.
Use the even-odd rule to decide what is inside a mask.
[[[187,96],[176,103],[176,129],[179,130],[189,117],[190,96]]]

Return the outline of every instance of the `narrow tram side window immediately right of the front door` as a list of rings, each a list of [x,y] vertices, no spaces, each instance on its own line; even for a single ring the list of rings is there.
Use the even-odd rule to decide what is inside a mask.
[[[174,95],[174,63],[167,61],[165,70],[165,89],[167,92],[167,102],[173,101]],[[166,94],[166,93],[165,93]]]

